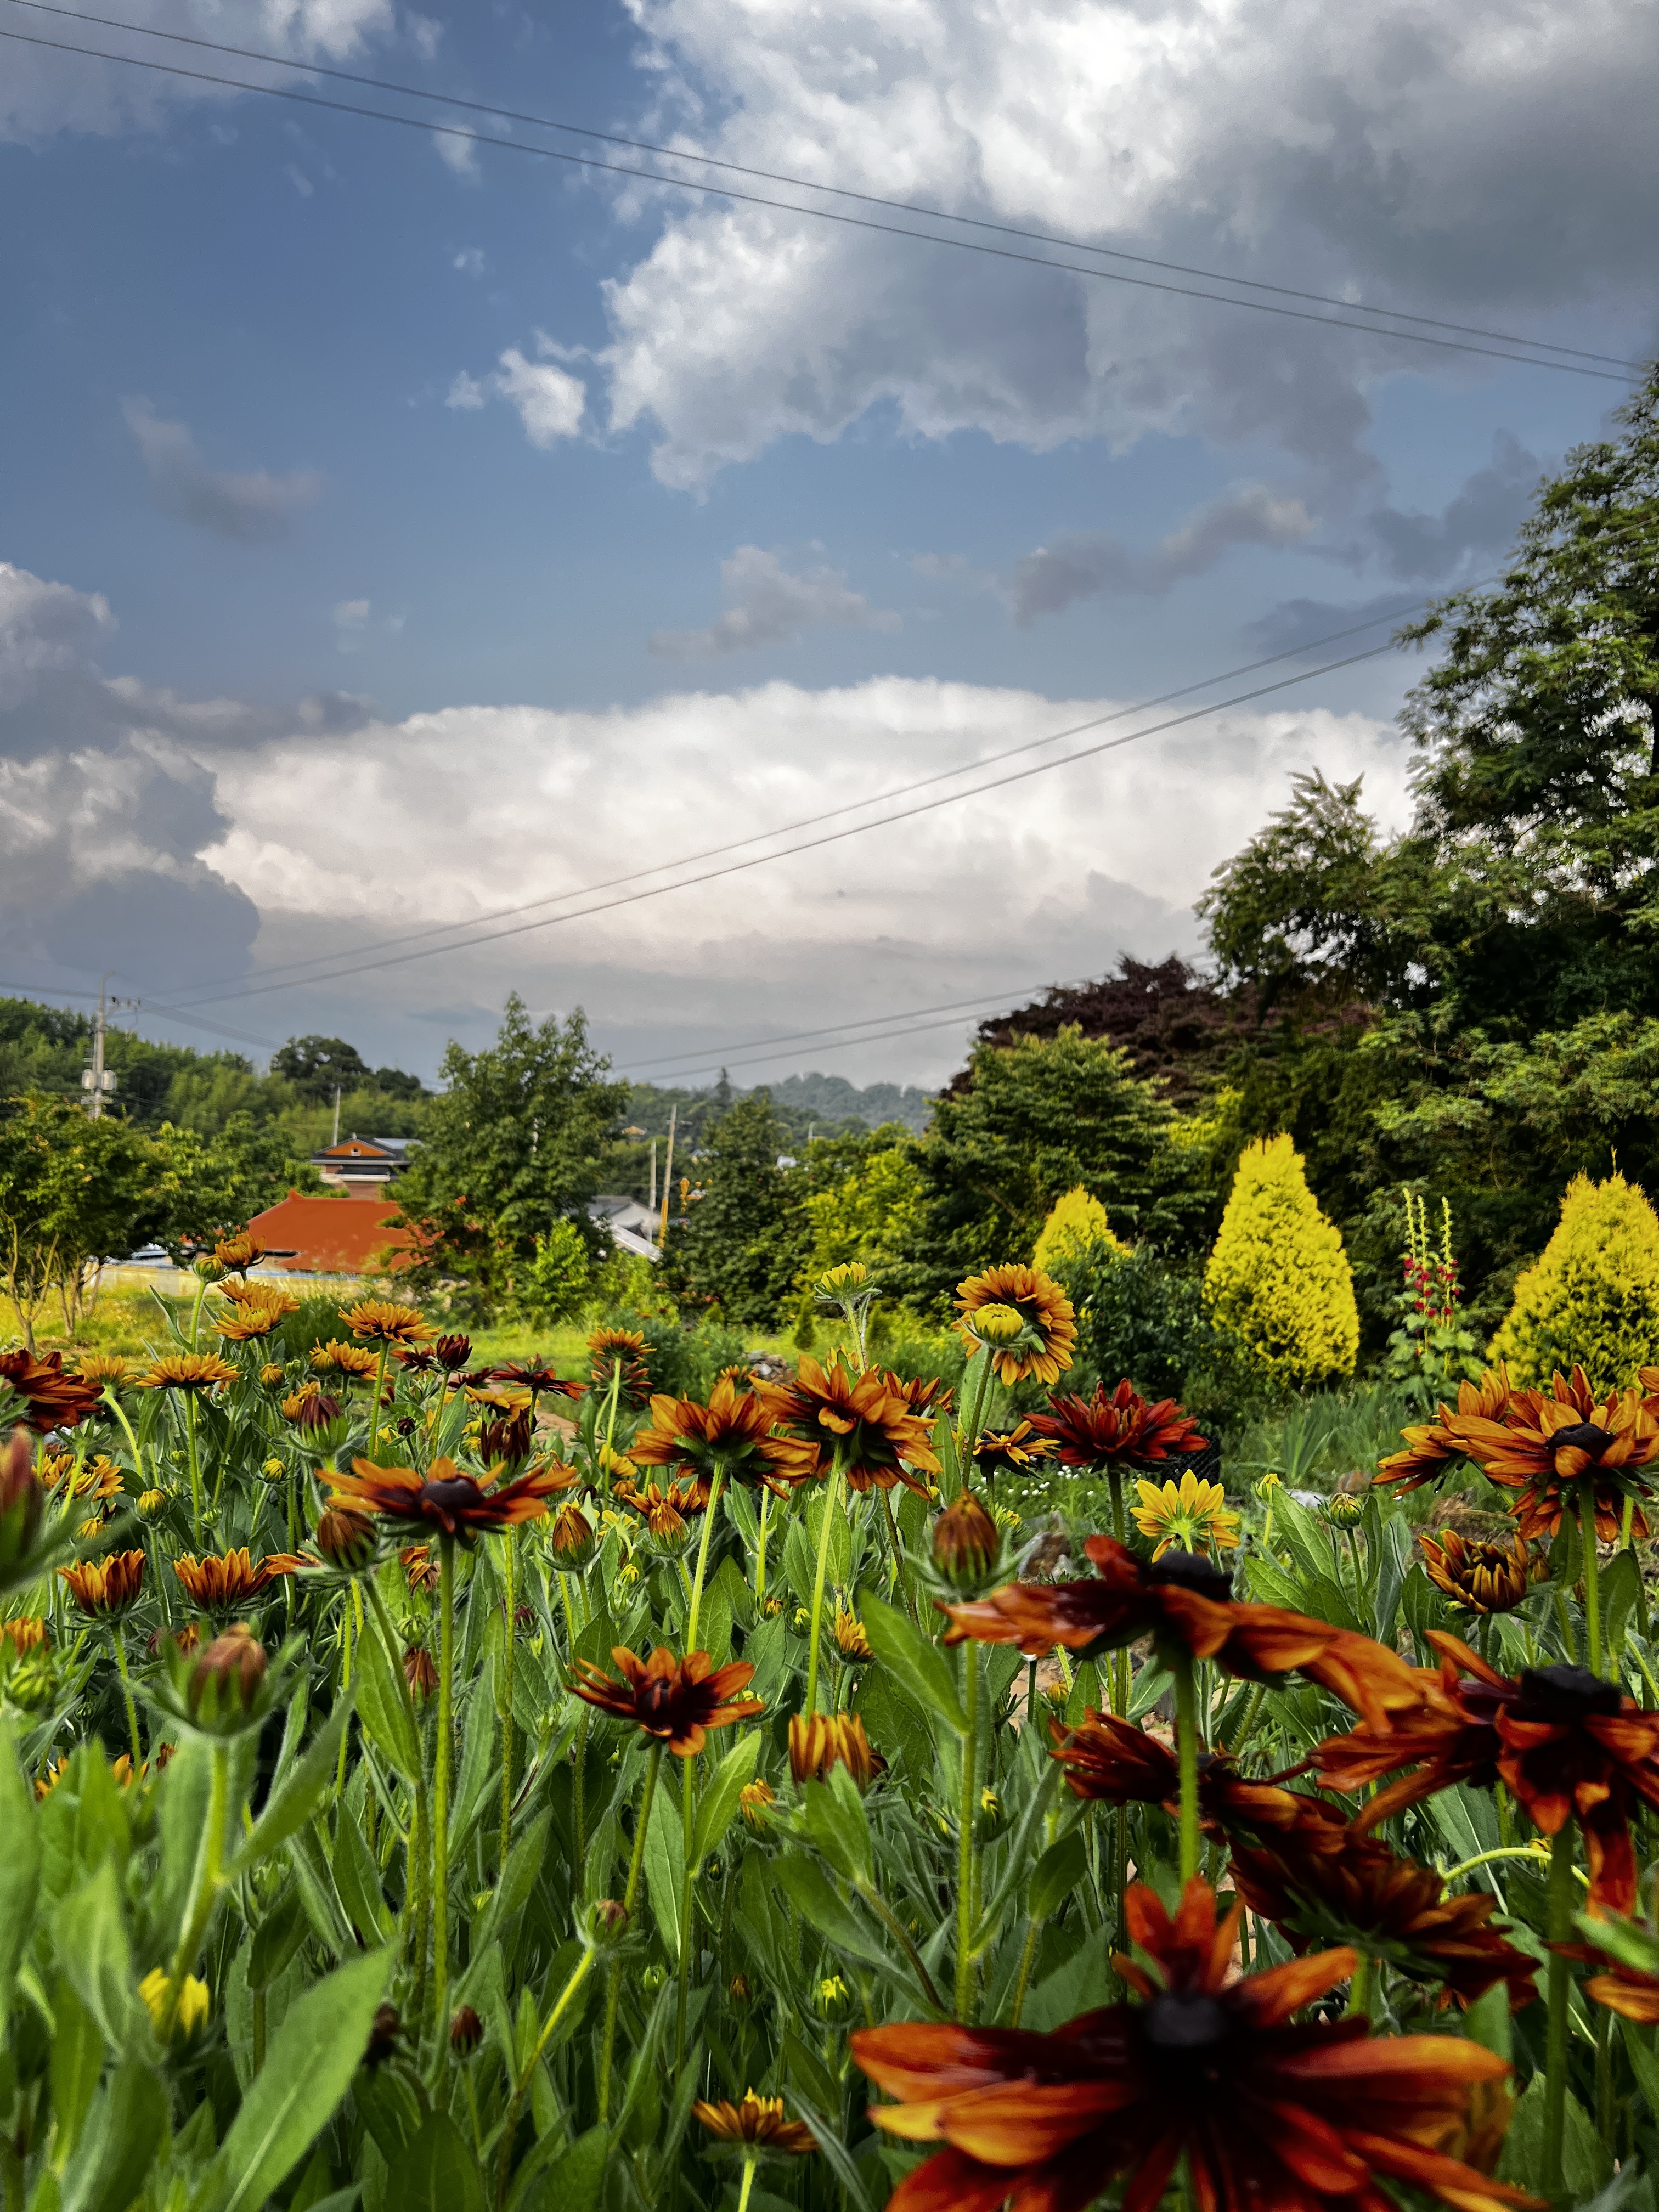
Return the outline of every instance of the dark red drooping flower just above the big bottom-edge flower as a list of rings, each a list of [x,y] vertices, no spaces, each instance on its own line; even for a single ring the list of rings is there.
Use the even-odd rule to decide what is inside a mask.
[[[1433,1867],[1400,1858],[1385,1843],[1354,1836],[1340,1820],[1325,1834],[1303,1827],[1270,1845],[1232,1847],[1232,1882],[1252,1913],[1272,1920],[1292,1949],[1338,1938],[1387,1958],[1442,2000],[1473,2004],[1493,1982],[1509,1984],[1517,2013],[1537,1995],[1537,1966],[1489,1927],[1498,1900],[1444,1893]]]

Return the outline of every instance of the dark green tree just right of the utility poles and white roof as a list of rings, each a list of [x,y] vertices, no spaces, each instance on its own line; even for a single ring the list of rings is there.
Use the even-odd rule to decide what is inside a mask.
[[[726,1321],[776,1321],[803,1259],[801,1188],[779,1168],[783,1128],[765,1091],[737,1099],[697,1155],[697,1190],[664,1245],[664,1285]],[[670,1212],[675,1201],[670,1199]]]

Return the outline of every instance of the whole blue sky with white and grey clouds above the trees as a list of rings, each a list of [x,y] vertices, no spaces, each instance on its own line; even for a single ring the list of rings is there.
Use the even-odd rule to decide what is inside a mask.
[[[936,1084],[1201,958],[1659,352],[1641,0],[93,11],[0,0],[0,989],[254,1062]]]

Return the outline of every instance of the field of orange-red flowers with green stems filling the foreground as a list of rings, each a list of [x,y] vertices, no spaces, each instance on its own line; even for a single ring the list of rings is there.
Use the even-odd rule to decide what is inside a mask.
[[[686,1398],[259,1256],[0,1354],[7,2212],[1648,2203],[1659,1369],[1228,1491],[1040,1267]]]

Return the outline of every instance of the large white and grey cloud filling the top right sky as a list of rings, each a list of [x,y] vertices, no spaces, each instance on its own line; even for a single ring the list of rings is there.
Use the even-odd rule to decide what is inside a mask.
[[[1613,349],[1650,336],[1641,0],[630,9],[655,128],[734,161],[1566,343],[1606,343],[1586,310]],[[608,365],[613,422],[653,429],[668,484],[787,434],[832,440],[876,405],[909,434],[1040,451],[1148,429],[1272,442],[1338,482],[1365,473],[1380,376],[1493,374],[768,208],[659,206],[661,237],[608,285]]]

